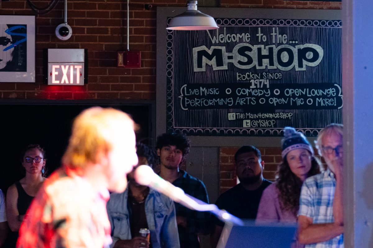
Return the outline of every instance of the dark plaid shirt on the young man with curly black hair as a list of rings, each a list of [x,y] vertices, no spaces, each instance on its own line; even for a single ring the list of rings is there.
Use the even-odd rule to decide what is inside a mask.
[[[195,177],[192,177],[186,171],[180,170],[181,176],[173,181],[173,185],[184,190],[186,194],[197,198],[203,202],[209,203],[206,187],[203,182]],[[209,229],[209,212],[198,212],[175,202],[176,216],[186,217],[187,229],[183,230],[180,226],[179,239],[181,248],[199,248],[200,241],[197,234],[208,234]]]

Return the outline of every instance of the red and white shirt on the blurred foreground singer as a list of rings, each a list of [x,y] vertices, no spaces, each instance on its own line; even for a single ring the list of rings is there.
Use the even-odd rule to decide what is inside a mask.
[[[109,247],[109,191],[93,191],[77,171],[60,168],[43,184],[21,225],[18,248]]]

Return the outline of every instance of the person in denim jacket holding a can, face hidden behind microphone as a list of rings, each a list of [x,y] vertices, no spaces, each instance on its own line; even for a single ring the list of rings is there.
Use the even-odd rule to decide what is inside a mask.
[[[139,165],[156,164],[153,148],[137,144],[138,165],[127,175],[128,188],[123,193],[112,193],[107,202],[107,213],[112,227],[111,247],[149,247],[146,238],[139,236],[141,228],[150,230],[152,248],[179,248],[176,213],[173,201],[164,194],[142,186],[134,180]]]

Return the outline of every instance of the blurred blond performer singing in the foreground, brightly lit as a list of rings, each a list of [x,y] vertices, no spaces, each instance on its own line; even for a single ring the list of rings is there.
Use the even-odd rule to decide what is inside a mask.
[[[131,117],[110,108],[92,107],[76,117],[63,166],[31,203],[17,247],[109,247],[108,190],[123,192],[138,162],[134,128]]]

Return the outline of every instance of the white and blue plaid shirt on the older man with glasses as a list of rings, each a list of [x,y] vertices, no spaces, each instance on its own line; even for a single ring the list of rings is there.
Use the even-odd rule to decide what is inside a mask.
[[[335,177],[329,168],[322,174],[307,178],[302,186],[298,215],[315,224],[333,223]],[[343,248],[343,233],[324,242],[305,245],[305,248]]]

